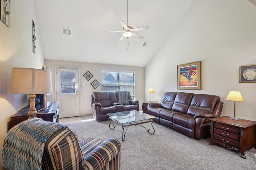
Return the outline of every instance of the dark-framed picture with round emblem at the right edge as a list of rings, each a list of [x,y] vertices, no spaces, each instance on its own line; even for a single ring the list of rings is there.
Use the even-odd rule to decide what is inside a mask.
[[[240,66],[240,83],[256,83],[256,65]]]

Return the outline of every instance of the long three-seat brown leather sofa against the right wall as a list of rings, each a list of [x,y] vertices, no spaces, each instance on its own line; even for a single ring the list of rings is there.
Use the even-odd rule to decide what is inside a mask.
[[[210,137],[210,119],[219,117],[223,102],[219,96],[185,92],[166,92],[160,103],[150,102],[147,113],[154,121],[191,138]]]

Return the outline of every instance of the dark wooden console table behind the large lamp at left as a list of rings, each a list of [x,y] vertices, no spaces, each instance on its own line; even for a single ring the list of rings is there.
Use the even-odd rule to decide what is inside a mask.
[[[46,109],[42,109],[37,112],[36,117],[41,118],[45,121],[52,121],[59,123],[59,101],[51,102]],[[10,129],[17,125],[18,123],[28,119],[28,110],[29,106],[23,109],[22,111],[18,111],[15,115],[13,115],[10,119]]]

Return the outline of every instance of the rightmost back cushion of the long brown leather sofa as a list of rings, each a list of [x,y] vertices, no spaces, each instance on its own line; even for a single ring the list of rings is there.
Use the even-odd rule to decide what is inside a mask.
[[[187,114],[196,115],[198,113],[212,113],[216,103],[219,101],[219,96],[195,94],[191,100]]]

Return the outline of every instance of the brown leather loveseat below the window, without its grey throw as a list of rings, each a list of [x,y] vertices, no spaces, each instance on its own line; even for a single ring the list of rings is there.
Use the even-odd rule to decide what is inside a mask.
[[[116,92],[93,92],[91,96],[92,117],[96,121],[108,120],[107,113],[115,113],[120,111],[140,111],[139,101],[132,100],[130,92],[128,92],[129,104],[121,104],[118,102],[120,91]]]

